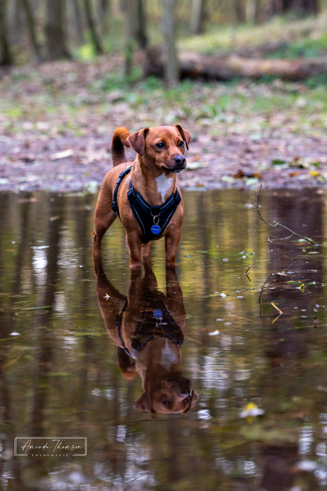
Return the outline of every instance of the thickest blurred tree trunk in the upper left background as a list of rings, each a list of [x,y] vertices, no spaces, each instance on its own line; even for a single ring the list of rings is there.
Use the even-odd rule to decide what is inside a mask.
[[[66,48],[64,12],[64,0],[46,1],[45,36],[50,60],[70,58]]]

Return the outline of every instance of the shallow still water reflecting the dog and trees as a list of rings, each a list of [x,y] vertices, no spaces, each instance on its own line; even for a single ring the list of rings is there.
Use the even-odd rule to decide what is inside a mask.
[[[183,196],[176,275],[159,241],[131,277],[117,221],[96,281],[97,196],[0,194],[3,489],[326,489],[326,196],[260,199],[318,246],[268,241],[289,233],[250,191]],[[16,437],[86,437],[87,455],[15,456]]]

